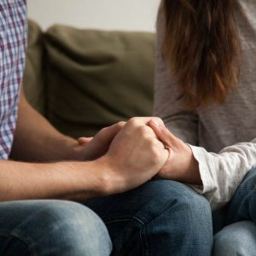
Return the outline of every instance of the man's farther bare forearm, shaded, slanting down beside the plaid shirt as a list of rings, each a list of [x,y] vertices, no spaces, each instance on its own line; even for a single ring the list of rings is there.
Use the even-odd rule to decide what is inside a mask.
[[[79,160],[79,144],[57,131],[32,109],[21,91],[15,139],[11,151],[14,160]]]

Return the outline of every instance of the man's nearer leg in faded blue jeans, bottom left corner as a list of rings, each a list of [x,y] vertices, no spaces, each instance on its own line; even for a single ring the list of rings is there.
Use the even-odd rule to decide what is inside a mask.
[[[102,255],[112,244],[102,220],[71,201],[0,203],[0,255]]]

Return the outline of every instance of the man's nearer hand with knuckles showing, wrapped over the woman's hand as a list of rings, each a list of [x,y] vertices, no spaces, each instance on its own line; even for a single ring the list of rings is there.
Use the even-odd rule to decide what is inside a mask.
[[[148,118],[130,119],[101,161],[108,172],[108,194],[121,193],[147,182],[165,165],[169,152],[145,125]]]

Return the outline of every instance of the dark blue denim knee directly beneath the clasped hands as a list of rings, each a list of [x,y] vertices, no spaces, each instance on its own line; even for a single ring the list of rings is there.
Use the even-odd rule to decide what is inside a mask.
[[[183,183],[154,180],[85,202],[108,227],[113,255],[210,255],[208,201]],[[128,253],[129,252],[129,253]]]

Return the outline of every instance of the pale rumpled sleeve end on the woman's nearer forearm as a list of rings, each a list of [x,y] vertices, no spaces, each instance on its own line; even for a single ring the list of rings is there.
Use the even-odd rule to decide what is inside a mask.
[[[203,187],[197,189],[207,196],[213,209],[227,204],[246,173],[256,167],[256,138],[251,143],[226,147],[218,154],[190,147],[199,163],[203,183]]]

